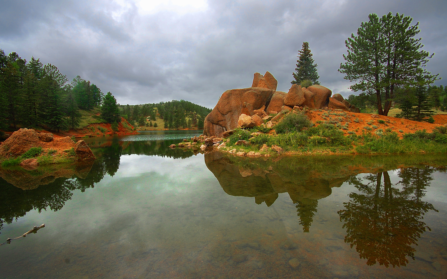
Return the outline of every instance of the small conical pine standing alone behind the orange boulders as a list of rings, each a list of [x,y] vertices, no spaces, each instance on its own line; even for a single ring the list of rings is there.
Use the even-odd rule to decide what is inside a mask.
[[[310,80],[313,84],[320,84],[318,79],[320,76],[316,71],[318,66],[314,63],[311,50],[309,49],[309,42],[303,42],[301,50],[298,50],[299,56],[296,60],[295,73],[292,73],[295,80],[291,84],[300,84],[304,80]]]

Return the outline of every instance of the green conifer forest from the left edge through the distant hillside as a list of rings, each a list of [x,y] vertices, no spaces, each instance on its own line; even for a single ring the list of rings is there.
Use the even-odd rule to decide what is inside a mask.
[[[95,123],[112,123],[112,129],[121,116],[132,125],[156,127],[158,118],[164,129],[203,129],[211,112],[185,100],[119,105],[112,93],[104,94],[79,75],[68,82],[55,65],[43,65],[34,57],[26,61],[16,52],[6,55],[1,49],[0,111],[0,130],[41,127],[57,132],[79,128],[81,117],[89,114]]]

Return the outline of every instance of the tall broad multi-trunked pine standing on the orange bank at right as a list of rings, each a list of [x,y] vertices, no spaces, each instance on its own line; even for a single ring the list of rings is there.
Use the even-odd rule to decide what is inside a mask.
[[[379,18],[369,15],[362,22],[357,36],[346,40],[346,62],[339,71],[345,79],[357,82],[350,86],[354,92],[377,100],[378,113],[388,115],[399,88],[433,83],[438,75],[431,75],[424,66],[433,56],[421,50],[418,24],[411,25],[411,17],[389,12]],[[405,53],[405,55],[403,55]],[[360,107],[356,105],[357,107]]]

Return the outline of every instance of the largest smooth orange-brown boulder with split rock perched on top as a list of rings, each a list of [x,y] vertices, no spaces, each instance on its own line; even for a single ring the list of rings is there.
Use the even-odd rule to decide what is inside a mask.
[[[254,75],[252,86],[256,85],[255,87],[223,92],[214,109],[205,118],[204,135],[222,137],[223,132],[238,127],[239,116],[242,113],[251,116],[254,110],[267,105],[278,82],[269,72],[256,82],[260,76]]]

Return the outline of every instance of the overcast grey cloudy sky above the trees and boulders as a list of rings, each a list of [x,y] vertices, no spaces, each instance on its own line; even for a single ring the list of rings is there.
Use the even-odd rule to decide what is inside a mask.
[[[420,22],[427,70],[447,79],[446,0],[0,0],[0,48],[56,65],[120,104],[190,100],[213,108],[227,89],[270,71],[287,92],[308,41],[322,85],[348,96],[337,72],[345,40],[369,13]],[[436,84],[445,84],[441,80]]]

